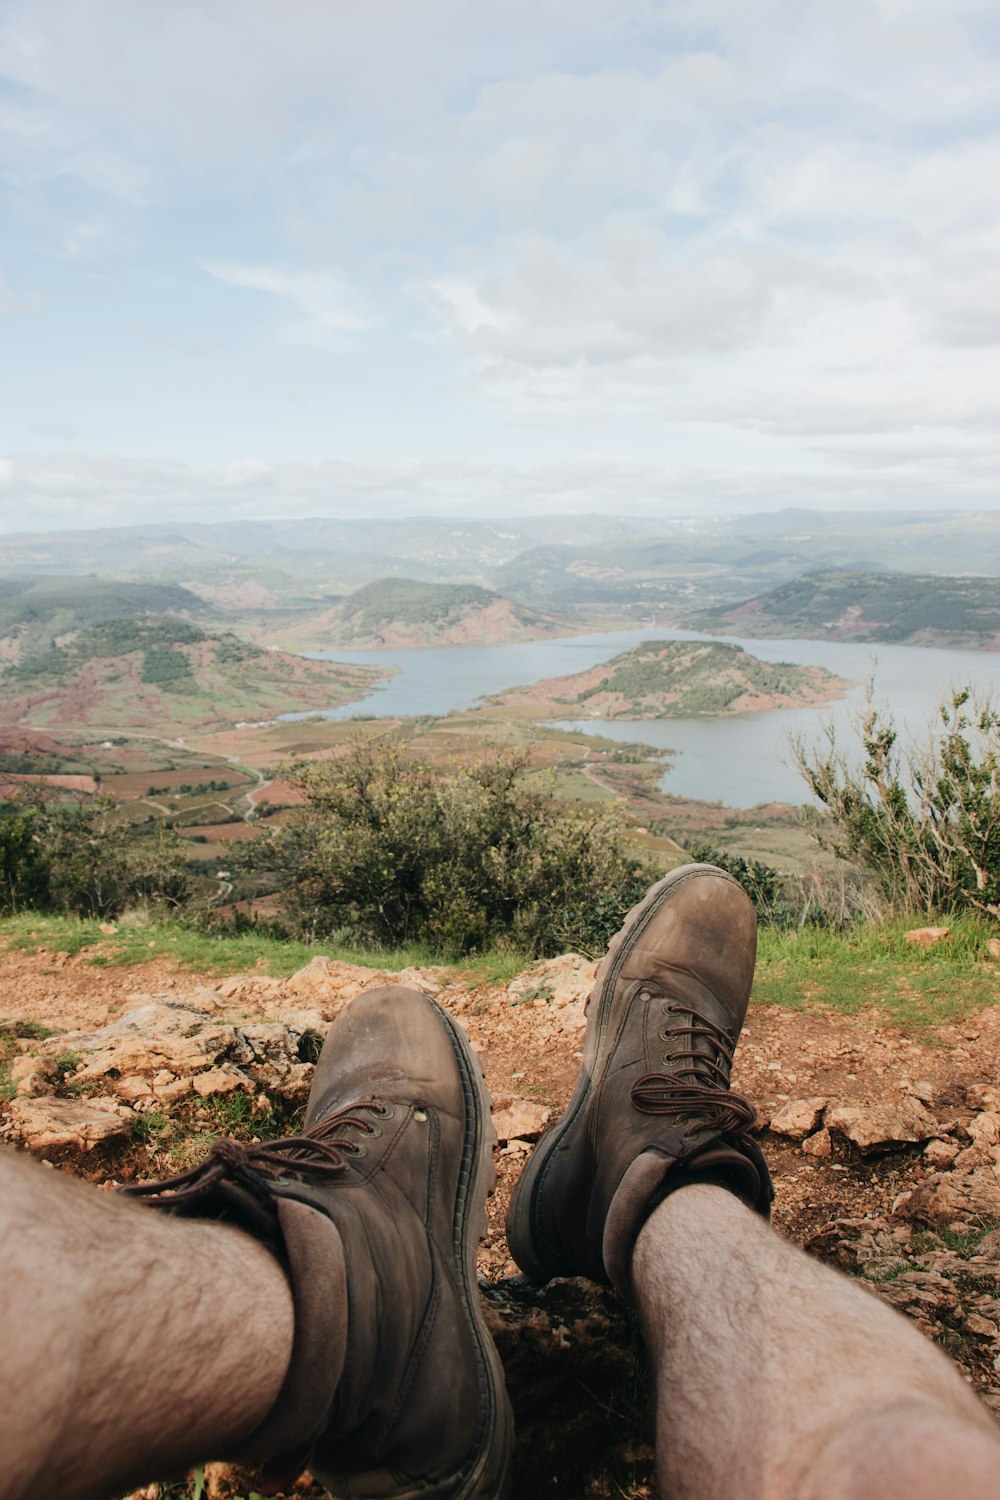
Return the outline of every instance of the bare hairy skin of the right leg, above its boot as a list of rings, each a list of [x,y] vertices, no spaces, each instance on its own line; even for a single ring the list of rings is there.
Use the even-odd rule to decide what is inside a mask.
[[[631,1269],[669,1500],[1000,1497],[1000,1432],[951,1360],[730,1192],[670,1194]]]

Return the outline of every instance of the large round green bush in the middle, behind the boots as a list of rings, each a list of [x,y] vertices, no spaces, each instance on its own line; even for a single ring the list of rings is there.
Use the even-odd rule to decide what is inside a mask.
[[[387,741],[291,772],[304,804],[246,846],[276,872],[301,933],[423,942],[456,957],[508,942],[595,952],[658,872],[616,813],[567,804],[526,756],[444,774]]]

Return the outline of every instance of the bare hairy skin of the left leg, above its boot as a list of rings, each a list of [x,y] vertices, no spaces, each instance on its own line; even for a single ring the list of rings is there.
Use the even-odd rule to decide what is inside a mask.
[[[249,1234],[0,1150],[4,1500],[108,1496],[231,1450],[274,1404],[292,1326]]]

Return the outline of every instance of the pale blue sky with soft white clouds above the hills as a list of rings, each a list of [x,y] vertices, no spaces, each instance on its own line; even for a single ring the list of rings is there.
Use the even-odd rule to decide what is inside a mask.
[[[996,0],[0,0],[0,531],[994,510]]]

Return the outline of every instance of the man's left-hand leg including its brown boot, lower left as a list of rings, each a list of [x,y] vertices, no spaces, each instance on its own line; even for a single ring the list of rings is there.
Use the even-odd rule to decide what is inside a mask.
[[[3,1500],[204,1458],[358,1500],[505,1496],[475,1278],[495,1138],[462,1030],[388,987],[330,1028],[298,1136],[127,1190],[159,1212],[4,1155]]]

